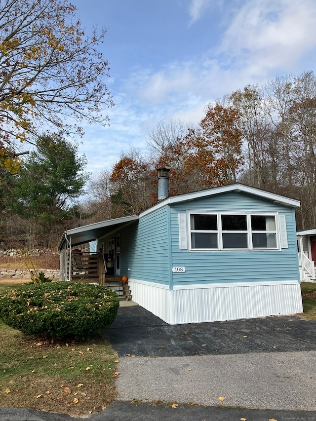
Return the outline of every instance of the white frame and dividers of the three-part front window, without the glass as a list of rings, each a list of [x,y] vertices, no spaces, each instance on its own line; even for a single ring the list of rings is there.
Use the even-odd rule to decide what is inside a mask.
[[[191,217],[192,215],[216,215],[217,230],[191,230]],[[245,230],[222,230],[222,215],[245,215],[247,231]],[[186,223],[188,232],[188,251],[190,252],[203,252],[203,251],[281,251],[280,241],[280,227],[278,212],[252,212],[252,211],[217,211],[217,210],[194,210],[188,209],[186,211]],[[251,229],[251,216],[273,216],[275,218],[276,230],[252,230]],[[193,232],[209,232],[217,233],[217,248],[193,248],[192,247],[192,233]],[[224,248],[223,247],[223,233],[246,233],[247,234],[247,248]],[[254,247],[252,241],[253,233],[275,233],[276,234],[276,247]]]

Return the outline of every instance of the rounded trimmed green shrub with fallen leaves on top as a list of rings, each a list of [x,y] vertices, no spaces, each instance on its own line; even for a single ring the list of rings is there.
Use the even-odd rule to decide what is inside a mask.
[[[23,285],[0,294],[0,320],[27,335],[91,338],[114,322],[119,298],[80,282]]]

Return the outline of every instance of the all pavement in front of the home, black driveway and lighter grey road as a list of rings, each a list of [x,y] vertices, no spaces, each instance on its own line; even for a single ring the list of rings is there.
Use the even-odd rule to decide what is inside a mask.
[[[119,394],[91,421],[316,420],[316,321],[280,316],[169,326],[142,307],[120,307],[104,337],[119,355]],[[172,408],[171,401],[180,404]],[[73,418],[0,409],[0,421],[44,420]]]

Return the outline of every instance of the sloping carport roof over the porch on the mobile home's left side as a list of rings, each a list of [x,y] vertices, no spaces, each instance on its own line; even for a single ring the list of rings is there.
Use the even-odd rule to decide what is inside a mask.
[[[84,225],[83,227],[64,231],[58,245],[58,250],[63,248],[65,242],[70,241],[72,247],[88,243],[89,241],[100,238],[121,225],[137,221],[138,218],[138,215],[124,216],[123,218],[110,219],[108,221],[97,222],[95,224]]]

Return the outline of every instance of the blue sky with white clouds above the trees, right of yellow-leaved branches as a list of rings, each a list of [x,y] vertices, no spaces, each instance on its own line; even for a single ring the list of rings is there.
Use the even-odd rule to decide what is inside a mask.
[[[248,83],[315,71],[316,0],[71,0],[86,32],[106,27],[116,106],[110,126],[85,125],[86,170],[146,152],[158,120],[196,124],[206,104]]]

